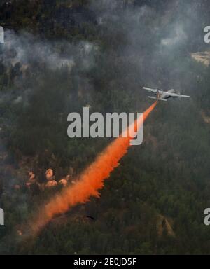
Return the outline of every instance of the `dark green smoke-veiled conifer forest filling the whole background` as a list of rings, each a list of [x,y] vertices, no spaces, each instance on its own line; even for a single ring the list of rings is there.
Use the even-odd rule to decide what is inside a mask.
[[[0,25],[0,254],[210,254],[209,1],[1,0]],[[25,236],[111,142],[70,139],[67,115],[144,112],[144,85],[191,98],[158,103],[100,198]]]

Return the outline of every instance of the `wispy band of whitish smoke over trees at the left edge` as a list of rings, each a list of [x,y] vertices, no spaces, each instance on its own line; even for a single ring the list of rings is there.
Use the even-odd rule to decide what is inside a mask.
[[[92,67],[97,50],[96,44],[87,41],[72,45],[67,41],[42,41],[39,37],[26,32],[15,34],[13,31],[6,31],[0,62],[13,67],[17,63],[25,67],[32,63],[45,64],[45,67],[52,71],[67,67],[71,72],[79,55],[80,68]]]

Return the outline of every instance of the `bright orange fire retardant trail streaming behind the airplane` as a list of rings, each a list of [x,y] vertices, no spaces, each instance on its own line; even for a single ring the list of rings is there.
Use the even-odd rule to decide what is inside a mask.
[[[149,107],[143,116],[143,122],[158,102]],[[138,119],[137,119],[138,120]],[[134,125],[137,127],[137,120]],[[139,126],[138,126],[139,127]],[[130,127],[129,127],[130,128]],[[71,185],[59,193],[40,210],[31,225],[33,233],[41,230],[54,216],[67,212],[79,203],[85,203],[90,197],[99,198],[99,190],[104,187],[104,180],[118,167],[119,161],[130,147],[131,137],[119,137],[97,156],[96,160],[80,174],[76,184]]]

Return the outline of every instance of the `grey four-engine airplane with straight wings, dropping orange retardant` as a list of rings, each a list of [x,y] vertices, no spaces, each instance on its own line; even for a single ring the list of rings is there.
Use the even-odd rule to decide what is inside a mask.
[[[175,93],[174,89],[168,90],[167,92],[162,91],[162,89],[161,90],[151,89],[151,88],[147,88],[147,87],[143,87],[143,89],[148,90],[148,92],[152,92],[153,94],[155,94],[157,96],[157,97],[148,96],[148,98],[160,100],[160,101],[165,101],[165,102],[167,102],[167,99],[169,99],[169,98],[190,98],[190,96],[188,96],[188,95],[179,95],[179,94]]]

